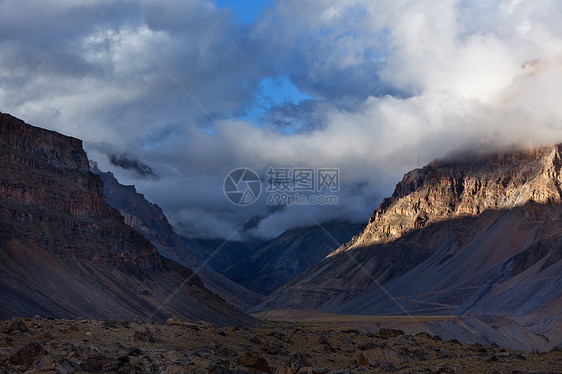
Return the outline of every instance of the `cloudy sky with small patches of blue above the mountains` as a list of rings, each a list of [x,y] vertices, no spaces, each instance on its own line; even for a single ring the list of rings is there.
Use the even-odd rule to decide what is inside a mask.
[[[562,142],[562,2],[0,0],[0,111],[84,141],[188,237],[368,222],[403,174]],[[237,206],[236,168],[339,170]],[[323,192],[324,193],[324,192]]]

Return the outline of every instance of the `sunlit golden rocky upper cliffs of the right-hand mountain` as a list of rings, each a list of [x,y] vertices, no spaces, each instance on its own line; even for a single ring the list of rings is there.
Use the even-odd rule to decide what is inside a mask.
[[[528,202],[560,203],[562,145],[433,161],[404,175],[363,232],[336,252],[395,240],[431,223]]]

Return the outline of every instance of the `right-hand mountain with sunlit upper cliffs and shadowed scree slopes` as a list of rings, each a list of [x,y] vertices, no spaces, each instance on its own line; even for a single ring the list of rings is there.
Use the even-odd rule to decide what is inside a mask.
[[[407,173],[361,234],[254,310],[496,315],[562,342],[561,151]]]

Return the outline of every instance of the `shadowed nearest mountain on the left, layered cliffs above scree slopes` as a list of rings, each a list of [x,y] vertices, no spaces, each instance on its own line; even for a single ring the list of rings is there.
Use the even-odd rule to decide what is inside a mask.
[[[0,318],[255,320],[126,225],[79,139],[0,113]]]

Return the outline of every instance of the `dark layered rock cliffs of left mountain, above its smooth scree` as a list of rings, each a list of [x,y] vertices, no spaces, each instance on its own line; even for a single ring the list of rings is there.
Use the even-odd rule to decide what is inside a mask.
[[[126,271],[162,266],[150,242],[106,204],[103,183],[89,173],[80,140],[1,116],[0,234],[5,242],[32,239],[55,254]],[[66,230],[46,232],[57,227]],[[77,233],[88,240],[77,240]],[[108,238],[114,245],[106,245]]]

